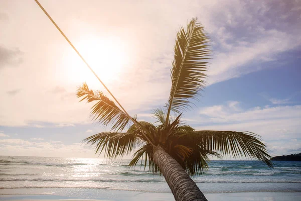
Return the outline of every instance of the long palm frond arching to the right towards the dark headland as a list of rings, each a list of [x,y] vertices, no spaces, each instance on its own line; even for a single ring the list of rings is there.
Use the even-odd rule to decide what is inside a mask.
[[[273,164],[269,160],[266,146],[259,139],[259,135],[251,132],[236,131],[195,131],[185,137],[193,138],[199,146],[221,154],[229,154],[234,158],[250,157],[266,163],[269,167]]]

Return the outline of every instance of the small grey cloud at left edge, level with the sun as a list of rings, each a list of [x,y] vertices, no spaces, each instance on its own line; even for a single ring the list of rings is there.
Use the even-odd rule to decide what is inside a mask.
[[[16,66],[22,62],[23,54],[19,49],[10,50],[0,46],[0,69],[5,66]]]

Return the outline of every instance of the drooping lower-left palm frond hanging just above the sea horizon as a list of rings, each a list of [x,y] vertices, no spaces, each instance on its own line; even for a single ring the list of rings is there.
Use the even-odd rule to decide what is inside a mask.
[[[83,142],[95,146],[95,153],[99,155],[104,151],[105,157],[116,158],[129,154],[140,139],[134,133],[102,132],[85,138]]]

